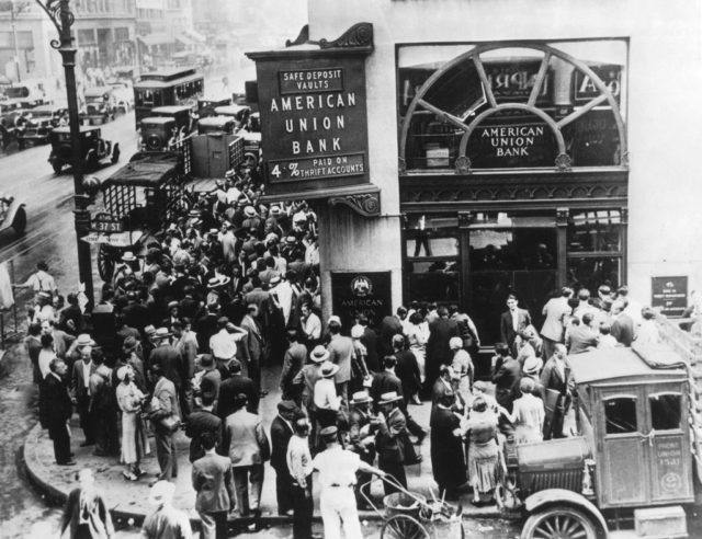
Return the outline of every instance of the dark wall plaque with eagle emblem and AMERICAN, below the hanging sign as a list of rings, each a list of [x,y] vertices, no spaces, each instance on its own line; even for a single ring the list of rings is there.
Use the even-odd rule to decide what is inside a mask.
[[[331,272],[331,307],[347,329],[356,313],[378,324],[393,313],[390,272]]]

